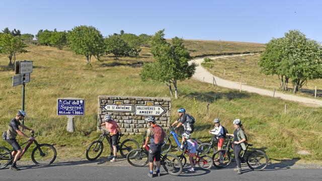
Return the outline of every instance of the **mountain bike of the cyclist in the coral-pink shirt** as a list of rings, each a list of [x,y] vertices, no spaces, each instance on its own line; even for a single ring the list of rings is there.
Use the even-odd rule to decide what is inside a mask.
[[[131,151],[132,149],[138,149],[139,144],[137,143],[136,140],[134,139],[125,139],[121,144],[120,144],[120,139],[123,136],[121,134],[117,140],[117,151],[120,151],[121,155],[126,158],[126,155]],[[104,148],[103,141],[106,138],[108,143],[112,145],[110,142],[110,137],[111,134],[109,131],[103,130],[102,134],[100,135],[99,139],[93,141],[88,148],[86,149],[86,158],[90,161],[96,160],[98,157],[101,156]]]

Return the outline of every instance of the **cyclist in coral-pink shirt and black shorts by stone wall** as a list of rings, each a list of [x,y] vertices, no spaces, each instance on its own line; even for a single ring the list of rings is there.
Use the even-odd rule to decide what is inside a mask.
[[[109,155],[109,159],[112,157],[112,150],[113,150],[113,159],[110,161],[116,161],[117,160],[117,141],[119,139],[119,136],[122,135],[119,125],[116,123],[116,121],[112,120],[111,116],[109,114],[106,114],[104,116],[105,122],[101,124],[101,126],[105,125],[106,130],[110,132],[111,139],[109,140],[111,153]]]

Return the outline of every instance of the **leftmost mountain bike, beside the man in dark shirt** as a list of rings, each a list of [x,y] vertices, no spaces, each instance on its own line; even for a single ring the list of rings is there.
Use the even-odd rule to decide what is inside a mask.
[[[22,156],[26,153],[30,145],[32,143],[35,143],[36,147],[31,152],[32,161],[39,166],[47,166],[53,163],[57,156],[55,147],[47,143],[39,144],[35,140],[34,132],[31,133],[31,137],[32,139],[29,139],[28,141],[26,141],[21,145],[23,146],[27,144],[25,148],[22,150],[22,153],[20,154],[18,160],[22,158]],[[0,169],[6,168],[8,165],[12,164],[16,154],[17,154],[16,150],[14,149],[9,150],[8,148],[1,146],[0,147]]]

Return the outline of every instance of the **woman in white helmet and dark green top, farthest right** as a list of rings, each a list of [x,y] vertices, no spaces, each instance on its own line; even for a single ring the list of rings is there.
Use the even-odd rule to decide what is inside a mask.
[[[244,133],[244,127],[241,124],[240,119],[235,119],[233,121],[233,126],[235,128],[235,131],[233,134],[227,134],[228,136],[233,137],[233,153],[235,155],[237,167],[234,169],[234,171],[237,171],[238,174],[241,174],[241,166],[240,166],[240,157],[239,154],[241,152],[241,149],[246,150],[246,136]],[[236,156],[238,155],[238,156]]]

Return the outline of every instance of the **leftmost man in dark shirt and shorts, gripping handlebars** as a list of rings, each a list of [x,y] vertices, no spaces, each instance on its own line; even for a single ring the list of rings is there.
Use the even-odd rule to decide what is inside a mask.
[[[14,171],[20,170],[20,168],[17,168],[17,161],[20,157],[20,154],[22,153],[22,149],[16,140],[17,135],[19,134],[20,136],[23,136],[25,138],[33,139],[32,137],[28,137],[27,135],[25,135],[25,133],[23,133],[19,129],[19,126],[20,126],[23,129],[29,130],[31,132],[34,131],[34,130],[28,128],[27,126],[20,124],[19,121],[23,120],[25,118],[25,116],[26,116],[26,112],[24,112],[23,110],[18,110],[16,118],[13,118],[10,121],[9,126],[8,126],[8,130],[7,130],[6,141],[14,148],[14,150],[15,150],[14,154],[16,153],[16,155],[13,154],[13,156],[15,156],[15,158],[10,166],[10,169],[14,170]]]

